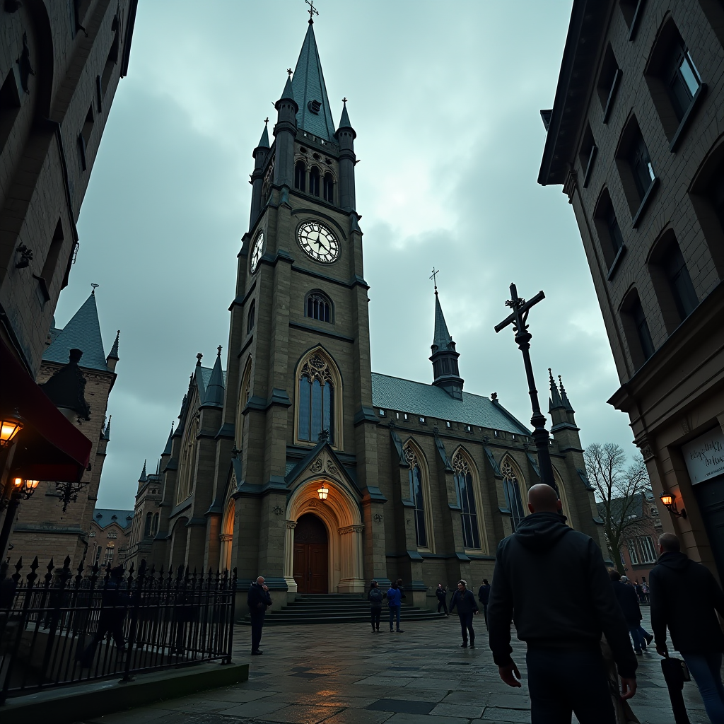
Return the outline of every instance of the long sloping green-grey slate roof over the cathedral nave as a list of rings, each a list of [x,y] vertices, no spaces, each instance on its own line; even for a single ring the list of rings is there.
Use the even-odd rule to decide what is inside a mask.
[[[372,404],[384,410],[398,410],[518,435],[531,434],[523,423],[488,397],[463,392],[462,400],[454,400],[445,390],[432,384],[376,372],[372,373]]]

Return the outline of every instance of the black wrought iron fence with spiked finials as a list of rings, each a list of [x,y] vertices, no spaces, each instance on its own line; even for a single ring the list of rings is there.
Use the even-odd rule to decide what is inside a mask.
[[[74,576],[70,558],[41,578],[0,566],[0,704],[8,696],[122,675],[231,662],[236,569],[198,575],[133,566]],[[112,641],[111,641],[112,639]]]

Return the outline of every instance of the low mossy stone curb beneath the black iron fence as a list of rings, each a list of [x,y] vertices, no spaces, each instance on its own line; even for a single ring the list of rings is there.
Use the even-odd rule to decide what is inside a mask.
[[[116,678],[93,681],[7,699],[0,706],[0,720],[2,724],[72,724],[162,699],[230,686],[248,678],[248,664],[211,663],[141,674],[127,683]]]

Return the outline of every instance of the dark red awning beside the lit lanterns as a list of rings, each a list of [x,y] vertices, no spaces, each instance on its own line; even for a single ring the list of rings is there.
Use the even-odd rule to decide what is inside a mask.
[[[92,443],[35,384],[0,339],[0,415],[20,413],[11,470],[33,480],[75,482],[88,467]]]

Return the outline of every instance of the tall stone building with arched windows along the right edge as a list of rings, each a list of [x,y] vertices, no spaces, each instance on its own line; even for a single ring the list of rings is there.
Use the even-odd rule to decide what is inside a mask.
[[[573,206],[667,531],[724,579],[724,7],[575,0],[539,182]]]

